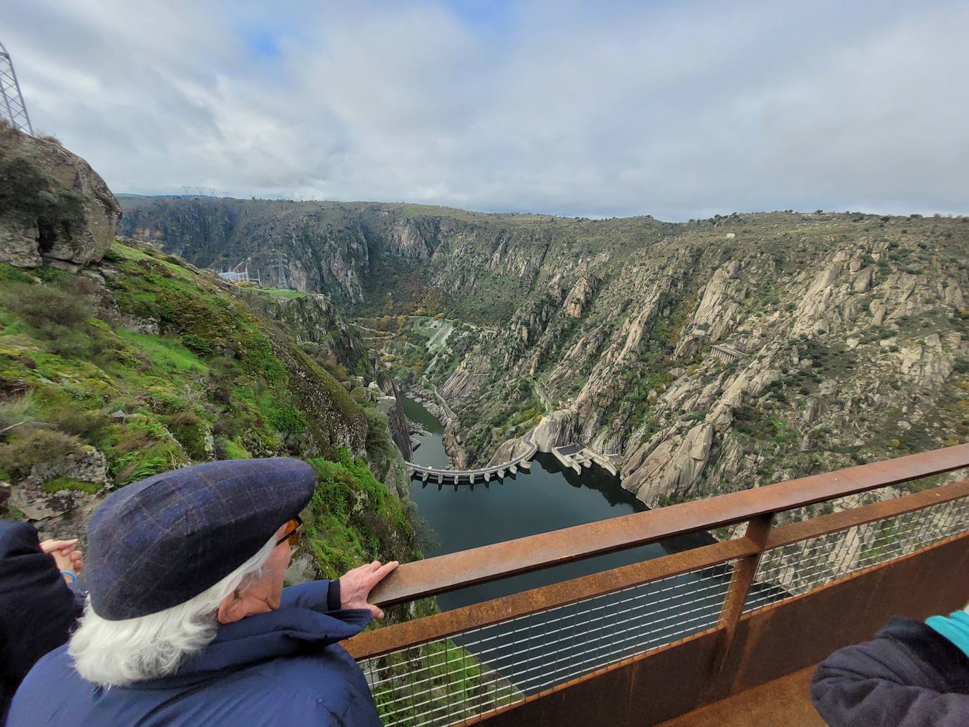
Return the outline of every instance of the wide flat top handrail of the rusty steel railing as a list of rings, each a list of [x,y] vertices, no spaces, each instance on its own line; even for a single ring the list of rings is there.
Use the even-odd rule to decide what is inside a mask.
[[[374,589],[372,598],[381,606],[412,601],[962,467],[969,467],[969,444],[439,555],[400,565]]]

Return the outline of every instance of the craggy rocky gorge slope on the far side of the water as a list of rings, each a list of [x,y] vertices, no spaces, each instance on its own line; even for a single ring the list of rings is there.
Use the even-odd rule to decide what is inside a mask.
[[[164,205],[149,227],[203,203]],[[398,314],[439,295],[449,318],[476,326],[451,362],[422,335],[402,340],[419,333],[403,317],[382,329],[398,339],[385,356],[456,413],[457,462],[486,461],[542,413],[567,410],[555,437],[567,428],[614,456],[624,486],[658,506],[969,438],[965,218],[775,212],[672,225],[294,209],[359,230],[352,260],[331,233],[313,243],[356,271],[341,304]]]

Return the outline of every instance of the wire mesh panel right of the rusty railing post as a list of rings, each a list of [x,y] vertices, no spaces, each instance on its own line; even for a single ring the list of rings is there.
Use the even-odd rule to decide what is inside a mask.
[[[969,531],[969,497],[764,553],[744,613]]]

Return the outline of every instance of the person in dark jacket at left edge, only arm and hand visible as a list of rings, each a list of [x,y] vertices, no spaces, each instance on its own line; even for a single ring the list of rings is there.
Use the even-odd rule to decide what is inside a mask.
[[[80,616],[77,542],[41,543],[33,525],[0,521],[0,724],[20,681]]]

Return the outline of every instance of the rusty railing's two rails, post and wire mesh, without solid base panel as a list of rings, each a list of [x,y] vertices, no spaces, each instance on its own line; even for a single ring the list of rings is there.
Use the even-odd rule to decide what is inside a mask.
[[[969,445],[853,467],[401,565],[383,605],[747,522],[742,536],[360,634],[392,725],[463,723],[616,662],[969,533],[969,480],[772,527],[775,513],[969,466]]]

